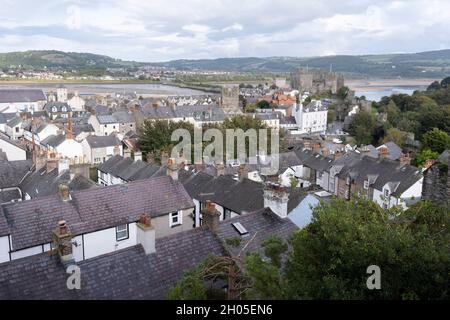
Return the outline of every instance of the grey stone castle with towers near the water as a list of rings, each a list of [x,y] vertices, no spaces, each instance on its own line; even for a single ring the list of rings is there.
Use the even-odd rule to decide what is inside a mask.
[[[291,73],[291,86],[301,92],[314,94],[331,90],[335,94],[344,86],[344,76],[335,72],[301,68]]]

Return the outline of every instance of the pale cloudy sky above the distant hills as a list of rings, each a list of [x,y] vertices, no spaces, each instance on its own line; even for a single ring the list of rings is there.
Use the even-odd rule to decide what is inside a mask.
[[[137,61],[450,48],[449,0],[0,0],[0,52]]]

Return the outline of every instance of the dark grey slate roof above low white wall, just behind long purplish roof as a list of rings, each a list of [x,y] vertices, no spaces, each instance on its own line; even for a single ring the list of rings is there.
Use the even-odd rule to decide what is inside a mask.
[[[160,177],[166,174],[166,171],[157,165],[141,160],[134,161],[131,158],[124,158],[120,155],[109,158],[98,169],[127,182]]]

